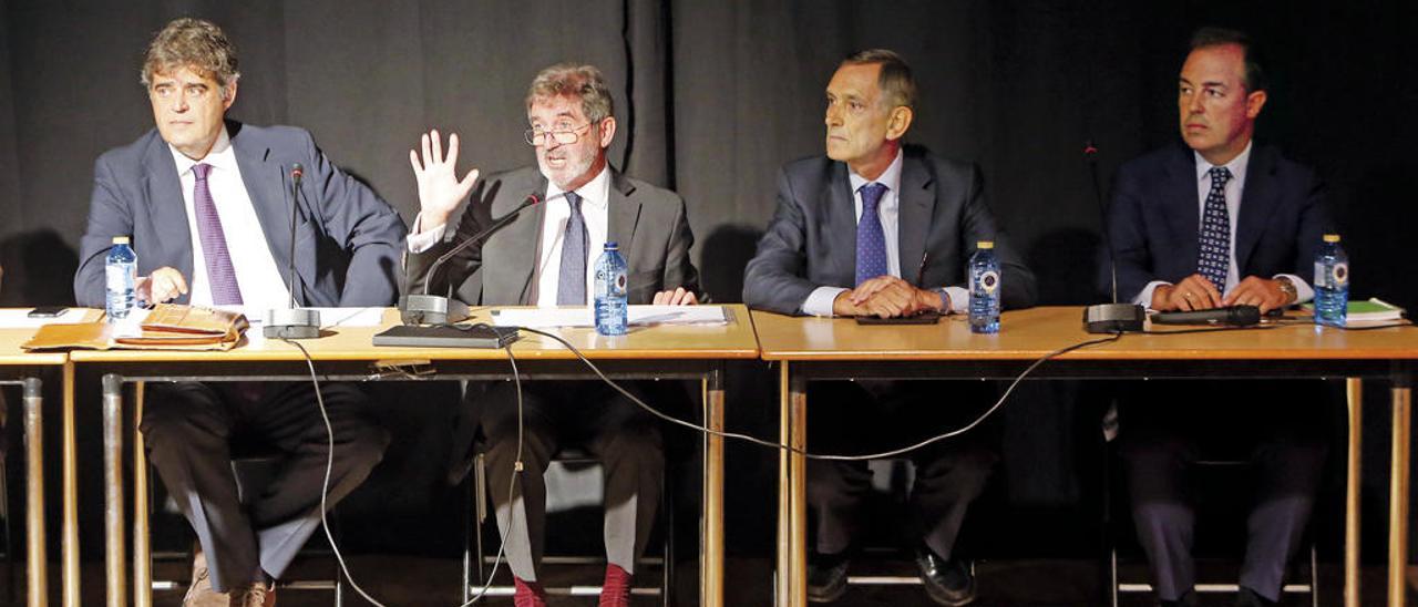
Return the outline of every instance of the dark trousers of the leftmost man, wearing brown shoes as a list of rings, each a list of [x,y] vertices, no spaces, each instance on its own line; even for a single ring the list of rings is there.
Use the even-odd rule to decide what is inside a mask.
[[[389,433],[366,417],[353,384],[322,384],[335,435],[326,506],[384,455]],[[279,579],[320,523],[329,437],[309,383],[150,383],[139,425],[149,458],[207,555],[211,586],[231,591]],[[242,505],[233,444],[284,454],[281,471]]]

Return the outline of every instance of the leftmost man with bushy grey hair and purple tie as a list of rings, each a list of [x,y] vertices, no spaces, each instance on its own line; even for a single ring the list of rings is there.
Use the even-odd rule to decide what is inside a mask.
[[[142,82],[157,128],[95,165],[74,277],[79,305],[104,306],[104,261],[116,235],[132,235],[146,302],[259,311],[286,306],[292,291],[309,306],[394,301],[403,220],[305,130],[225,121],[238,77],[235,48],[208,21],[179,18],[153,38]],[[288,284],[286,179],[295,163],[305,180]],[[326,501],[333,505],[369,475],[389,437],[366,420],[359,387],[326,384],[322,394],[336,445]],[[274,601],[272,580],[320,522],[329,450],[312,386],[153,384],[140,428],[201,546],[184,604]],[[282,472],[247,506],[233,475],[233,438],[286,454]]]

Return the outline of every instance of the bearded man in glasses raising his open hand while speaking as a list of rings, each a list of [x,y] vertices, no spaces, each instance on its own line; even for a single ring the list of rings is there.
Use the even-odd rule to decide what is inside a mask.
[[[408,237],[408,289],[432,281],[432,292],[452,292],[471,305],[584,306],[603,243],[618,243],[628,265],[630,304],[696,304],[699,272],[689,262],[693,235],[685,201],[607,162],[617,125],[600,69],[570,64],[543,69],[527,91],[526,109],[535,169],[498,173],[474,189],[476,170],[461,182],[454,174],[457,135],[448,139],[447,157],[437,130],[424,135],[420,152],[408,153],[423,208]],[[428,275],[434,260],[529,196],[543,203],[450,260],[445,272]],[[448,230],[454,218],[459,221]],[[515,384],[498,382],[468,394],[469,407],[482,408],[492,499],[515,576],[515,601],[519,607],[545,604],[536,574],[546,518],[542,474],[560,445],[584,444],[605,468],[608,564],[600,604],[625,606],[635,559],[655,520],[664,468],[659,428],[648,413],[600,382],[533,383],[522,391],[522,452]],[[527,474],[510,486],[513,468],[523,468],[518,464]]]

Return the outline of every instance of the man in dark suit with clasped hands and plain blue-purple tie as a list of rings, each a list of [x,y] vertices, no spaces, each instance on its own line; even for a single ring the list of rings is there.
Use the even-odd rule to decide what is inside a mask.
[[[910,68],[892,51],[842,61],[827,85],[827,157],[788,163],[778,174],[777,210],[744,275],[749,306],[817,316],[964,313],[966,262],[980,241],[995,243],[1004,306],[1034,304],[1034,275],[986,206],[980,170],[902,146],[915,94]],[[808,390],[818,452],[899,447],[959,427],[993,403],[978,383],[841,382]],[[973,573],[954,543],[998,458],[995,438],[977,431],[912,455],[916,562],[940,604],[974,600]],[[810,460],[807,489],[817,516],[808,598],[834,601],[847,591],[871,472],[865,461]]]

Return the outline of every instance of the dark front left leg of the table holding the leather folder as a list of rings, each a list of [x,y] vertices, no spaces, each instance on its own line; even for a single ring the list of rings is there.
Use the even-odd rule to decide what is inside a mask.
[[[104,376],[104,573],[108,606],[128,604],[123,567],[123,379]]]

